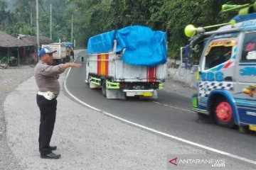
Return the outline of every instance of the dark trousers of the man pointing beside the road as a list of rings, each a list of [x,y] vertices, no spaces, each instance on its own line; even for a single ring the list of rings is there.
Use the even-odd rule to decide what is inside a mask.
[[[51,101],[41,95],[36,95],[36,103],[40,108],[41,118],[39,127],[39,152],[41,155],[50,154],[50,138],[53,135],[53,128],[56,118],[57,100]]]

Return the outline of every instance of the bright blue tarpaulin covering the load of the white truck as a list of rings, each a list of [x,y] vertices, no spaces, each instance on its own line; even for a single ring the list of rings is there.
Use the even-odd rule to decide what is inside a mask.
[[[112,30],[90,38],[88,55],[112,51],[116,38],[117,52],[125,48],[122,60],[127,64],[154,67],[166,62],[166,33],[145,26],[129,26],[114,34]]]

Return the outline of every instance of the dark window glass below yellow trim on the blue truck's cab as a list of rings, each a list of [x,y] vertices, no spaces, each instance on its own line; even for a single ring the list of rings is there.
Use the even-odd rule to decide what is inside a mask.
[[[206,55],[205,69],[213,68],[223,62],[230,60],[232,46],[210,47],[210,51]]]

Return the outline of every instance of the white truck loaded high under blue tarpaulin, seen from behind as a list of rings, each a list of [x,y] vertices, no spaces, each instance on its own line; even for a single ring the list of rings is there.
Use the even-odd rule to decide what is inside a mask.
[[[129,26],[91,37],[85,82],[107,98],[157,98],[166,77],[166,33]]]

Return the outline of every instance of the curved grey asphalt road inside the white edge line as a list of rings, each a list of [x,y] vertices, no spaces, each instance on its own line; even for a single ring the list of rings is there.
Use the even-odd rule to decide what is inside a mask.
[[[85,56],[85,53],[78,56]],[[119,118],[239,157],[256,160],[255,133],[242,134],[237,129],[222,128],[198,120],[198,116],[189,111],[189,96],[175,91],[159,91],[159,98],[154,101],[136,98],[109,100],[102,96],[100,89],[92,90],[85,84],[85,61],[81,69],[70,70],[66,85],[68,91],[80,101]]]

